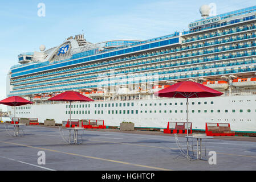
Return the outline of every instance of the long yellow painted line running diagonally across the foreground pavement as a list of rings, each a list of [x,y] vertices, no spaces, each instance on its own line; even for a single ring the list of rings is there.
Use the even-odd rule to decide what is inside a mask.
[[[58,150],[51,150],[51,149],[48,149],[48,148],[33,147],[33,146],[28,146],[28,145],[26,145],[26,144],[13,143],[13,142],[3,142],[3,141],[0,141],[0,142],[2,142],[2,143],[7,143],[7,144],[13,144],[13,145],[16,145],[16,146],[23,146],[23,147],[35,148],[35,149],[39,149],[39,150],[45,150],[45,151],[51,151],[51,152],[58,152],[58,153],[61,153],[61,154],[75,155],[75,156],[80,156],[80,157],[83,157],[83,158],[104,160],[104,161],[112,162],[112,163],[127,164],[127,165],[131,165],[131,166],[145,167],[145,168],[157,169],[157,170],[161,170],[161,171],[173,171],[172,169],[165,169],[165,168],[159,168],[159,167],[153,167],[153,166],[146,166],[146,165],[141,165],[141,164],[133,164],[133,163],[128,163],[128,162],[123,162],[123,161],[120,161],[120,160],[112,160],[112,159],[97,158],[97,157],[94,157],[94,156],[87,156],[87,155],[81,155],[81,154],[74,154],[74,153],[70,153],[70,152],[62,152],[62,151],[58,151]]]

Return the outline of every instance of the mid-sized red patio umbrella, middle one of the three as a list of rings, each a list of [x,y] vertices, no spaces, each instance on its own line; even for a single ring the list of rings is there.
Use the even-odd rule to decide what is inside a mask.
[[[71,102],[72,101],[80,101],[80,102],[90,102],[94,101],[91,98],[88,98],[78,92],[75,91],[67,91],[64,93],[60,93],[57,96],[48,98],[50,101],[68,101],[70,102],[70,122],[71,122]],[[70,123],[71,126],[71,123]]]

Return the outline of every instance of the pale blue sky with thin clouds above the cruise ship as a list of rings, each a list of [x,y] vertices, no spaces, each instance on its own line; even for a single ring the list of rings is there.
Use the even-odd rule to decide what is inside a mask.
[[[46,5],[45,17],[37,15],[40,2]],[[46,49],[58,46],[82,30],[92,43],[145,40],[188,30],[190,22],[201,19],[200,6],[209,3],[216,3],[217,14],[256,5],[255,0],[1,1],[0,100],[6,98],[6,75],[18,64],[19,53],[39,51],[41,44]]]

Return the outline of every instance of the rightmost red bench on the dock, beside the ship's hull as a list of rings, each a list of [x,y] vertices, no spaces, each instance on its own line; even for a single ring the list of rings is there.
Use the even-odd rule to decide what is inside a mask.
[[[235,132],[230,130],[230,123],[205,123],[207,136],[234,136]]]

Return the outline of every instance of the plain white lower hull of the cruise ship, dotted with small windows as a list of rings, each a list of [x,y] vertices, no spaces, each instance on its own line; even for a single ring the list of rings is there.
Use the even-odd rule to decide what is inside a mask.
[[[200,104],[198,104],[198,102],[200,102]],[[207,102],[207,104],[205,104],[205,102]],[[211,104],[211,102],[213,104]],[[129,106],[127,106],[128,103]],[[172,105],[170,105],[170,103],[172,103]],[[169,121],[186,122],[185,103],[185,98],[108,102],[74,102],[72,105],[75,104],[76,107],[73,107],[72,111],[76,111],[78,114],[72,114],[72,118],[103,119],[105,125],[107,126],[120,126],[121,122],[127,121],[134,122],[135,127],[166,128],[167,122]],[[88,104],[90,104],[90,107],[88,107]],[[107,104],[107,107],[105,107],[105,104]],[[109,104],[111,105],[110,107]],[[217,122],[230,123],[231,130],[233,131],[256,132],[255,104],[256,96],[190,98],[189,122],[193,123],[193,130],[205,130],[206,122]],[[68,111],[70,110],[68,105],[68,103],[56,104],[56,102],[55,104],[25,105],[23,107],[30,106],[30,109],[16,110],[16,117],[38,118],[39,122],[44,122],[46,118],[54,118],[56,123],[62,123],[62,121],[67,121],[67,119],[70,117],[68,114]],[[86,105],[87,107],[85,107]],[[88,114],[89,110],[90,114]],[[171,113],[170,110],[172,111]],[[220,111],[218,112],[218,110]],[[83,111],[84,114],[82,114]],[[85,114],[86,111],[87,114]],[[12,108],[11,115],[13,114],[14,109]]]

